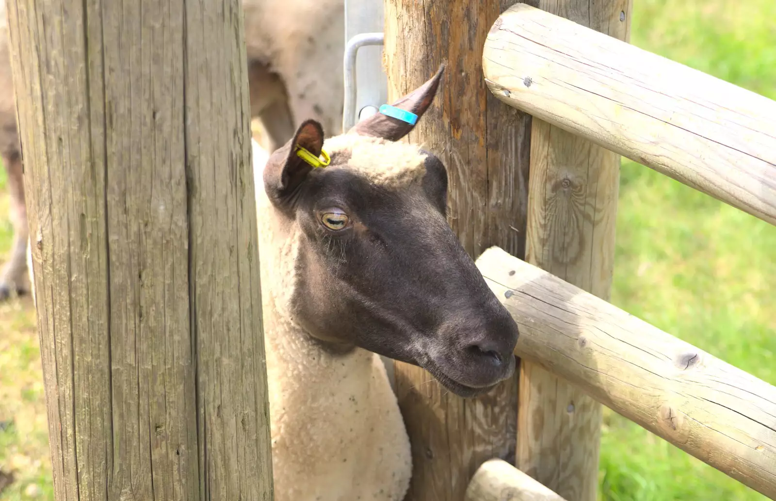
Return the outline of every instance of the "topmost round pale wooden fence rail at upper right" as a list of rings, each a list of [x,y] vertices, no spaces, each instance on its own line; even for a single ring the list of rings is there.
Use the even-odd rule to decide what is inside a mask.
[[[776,224],[771,99],[525,5],[483,68],[502,101]]]

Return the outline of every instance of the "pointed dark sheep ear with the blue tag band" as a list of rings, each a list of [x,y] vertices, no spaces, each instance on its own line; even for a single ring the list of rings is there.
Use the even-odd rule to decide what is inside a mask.
[[[424,112],[434,101],[434,97],[439,88],[439,81],[442,80],[442,74],[445,72],[445,64],[441,64],[436,74],[426,83],[416,88],[413,92],[400,98],[393,106],[404,109],[407,112],[413,112],[420,120]],[[416,122],[417,123],[417,122]],[[382,137],[390,141],[398,141],[407,136],[413,130],[415,124],[404,122],[404,120],[393,118],[392,116],[375,113],[367,119],[357,123],[348,133],[356,133],[361,136]]]

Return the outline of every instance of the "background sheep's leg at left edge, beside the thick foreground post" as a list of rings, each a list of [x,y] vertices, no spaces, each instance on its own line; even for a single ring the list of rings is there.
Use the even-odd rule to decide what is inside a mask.
[[[11,221],[13,223],[13,247],[9,261],[0,272],[0,300],[7,299],[12,292],[29,292],[27,275],[27,208],[24,205],[24,174],[22,159],[18,152],[3,155],[5,171],[8,172],[8,188],[11,195]]]

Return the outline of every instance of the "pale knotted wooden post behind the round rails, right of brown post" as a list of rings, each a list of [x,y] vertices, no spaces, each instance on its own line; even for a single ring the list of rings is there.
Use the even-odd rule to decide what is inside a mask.
[[[539,8],[620,40],[632,0],[541,0]],[[533,119],[526,261],[608,299],[620,157]],[[521,364],[516,465],[569,501],[594,501],[601,404],[538,365]]]

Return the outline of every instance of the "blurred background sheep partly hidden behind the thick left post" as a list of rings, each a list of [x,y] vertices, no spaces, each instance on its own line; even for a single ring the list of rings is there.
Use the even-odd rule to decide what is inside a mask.
[[[243,0],[251,118],[265,126],[269,151],[293,136],[296,120],[341,128],[344,0]],[[303,13],[303,14],[302,14]],[[320,74],[326,78],[320,80]],[[5,0],[0,0],[0,157],[8,174],[14,240],[0,271],[0,301],[29,292],[27,214],[16,130]]]

